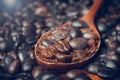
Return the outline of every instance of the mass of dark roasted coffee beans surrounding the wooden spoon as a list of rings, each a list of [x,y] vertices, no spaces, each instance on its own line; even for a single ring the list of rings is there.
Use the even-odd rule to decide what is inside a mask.
[[[102,41],[95,57],[66,73],[47,71],[38,65],[34,46],[43,33],[56,25],[71,20],[73,26],[80,26],[76,18],[85,15],[94,0],[20,0],[13,6],[3,1],[0,1],[1,80],[98,80],[89,74],[101,80],[120,80],[120,0],[105,0],[95,17]],[[75,32],[71,36],[78,35]],[[52,44],[46,41],[44,45]]]

